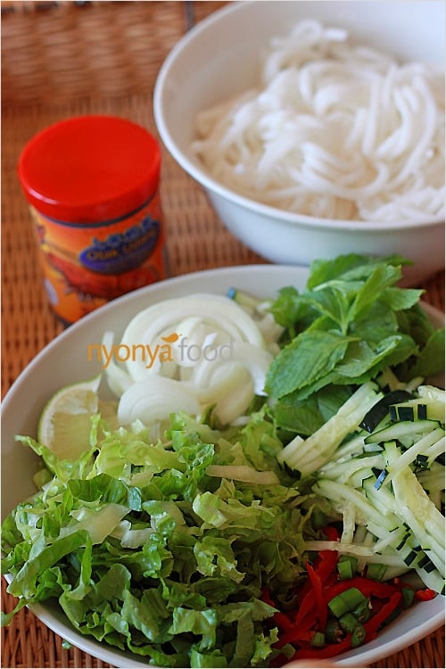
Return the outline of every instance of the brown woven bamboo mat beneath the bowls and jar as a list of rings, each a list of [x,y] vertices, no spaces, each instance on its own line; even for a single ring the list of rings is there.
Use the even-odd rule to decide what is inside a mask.
[[[42,285],[29,212],[16,178],[21,148],[38,130],[81,113],[108,113],[156,135],[153,84],[191,21],[219,2],[2,3],[2,394],[62,331]],[[221,225],[199,186],[163,154],[161,197],[171,275],[265,262]],[[443,276],[423,286],[444,310]],[[2,582],[2,609],[14,600]],[[4,667],[103,667],[22,609],[2,629]],[[444,631],[375,663],[443,667]]]

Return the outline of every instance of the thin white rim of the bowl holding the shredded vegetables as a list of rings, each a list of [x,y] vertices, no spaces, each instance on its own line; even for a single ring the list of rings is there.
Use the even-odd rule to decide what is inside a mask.
[[[254,273],[255,276],[255,272],[260,272],[261,274],[266,274],[270,277],[277,277],[281,280],[283,279],[283,275],[285,275],[289,277],[284,279],[285,281],[288,281],[288,283],[292,280],[296,281],[297,278],[300,277],[301,281],[303,282],[306,281],[306,277],[308,277],[309,268],[298,265],[259,263],[252,265],[235,265],[221,268],[202,269],[183,275],[178,275],[176,277],[169,277],[164,281],[157,282],[152,285],[147,285],[132,291],[131,293],[122,295],[120,298],[108,302],[107,304],[103,305],[103,307],[100,307],[99,309],[91,312],[84,318],[78,320],[77,323],[68,327],[66,330],[63,330],[60,335],[54,337],[50,343],[47,343],[45,347],[37,353],[36,357],[33,358],[21,371],[21,374],[13,382],[8,392],[6,392],[1,407],[2,416],[5,412],[12,410],[14,395],[16,392],[20,391],[21,385],[26,382],[26,378],[29,372],[35,373],[36,369],[43,364],[45,358],[48,355],[51,355],[54,349],[57,349],[61,345],[66,345],[66,343],[70,340],[76,339],[79,330],[81,331],[83,329],[87,329],[90,324],[95,326],[95,323],[100,323],[101,318],[105,313],[110,314],[115,310],[119,311],[121,305],[132,304],[133,302],[136,305],[139,301],[141,301],[142,298],[145,298],[145,296],[147,296],[148,300],[152,299],[153,296],[154,299],[157,300],[159,298],[156,297],[156,294],[162,290],[163,287],[168,287],[170,291],[175,292],[177,286],[181,288],[181,286],[186,285],[188,292],[191,290],[197,291],[196,282],[200,282],[202,285],[206,285],[207,279],[212,277],[217,280],[219,286],[221,286],[221,291],[223,292],[223,285],[234,285],[234,274],[236,274],[238,277],[247,277],[252,273]],[[225,280],[226,283],[224,284]],[[211,290],[212,292],[217,293],[217,290],[220,289],[212,288]],[[425,311],[433,318],[437,318],[442,321],[444,320],[442,311],[436,309],[434,306],[423,302],[423,309],[425,309]],[[441,610],[437,610],[438,607],[439,605],[436,604],[434,614],[430,615],[430,617],[427,617],[422,624],[417,625],[417,627],[415,627],[413,630],[403,632],[401,636],[397,637],[395,640],[385,641],[384,646],[379,644],[375,648],[373,646],[368,648],[367,645],[365,645],[355,649],[353,652],[348,651],[349,657],[343,657],[344,654],[335,657],[331,664],[333,666],[358,667],[359,660],[362,665],[368,665],[372,662],[379,661],[384,657],[389,657],[402,648],[407,648],[412,643],[415,643],[417,640],[424,638],[427,634],[434,632],[436,629],[442,626],[444,619],[444,607],[442,607]],[[131,654],[130,651],[121,651],[119,648],[113,648],[95,640],[94,637],[82,635],[71,626],[68,618],[66,618],[62,612],[62,609],[58,605],[54,607],[54,605],[51,603],[38,603],[29,606],[29,610],[32,611],[37,616],[37,618],[54,633],[62,636],[62,638],[70,642],[70,644],[76,648],[81,649],[83,652],[87,652],[92,657],[100,659],[103,662],[109,663],[113,666],[122,668],[147,666],[145,661],[142,661],[140,657]],[[374,643],[375,640],[370,641],[370,644]]]

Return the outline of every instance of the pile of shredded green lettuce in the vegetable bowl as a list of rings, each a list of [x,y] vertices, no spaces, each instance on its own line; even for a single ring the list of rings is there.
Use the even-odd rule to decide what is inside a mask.
[[[158,442],[138,422],[109,430],[96,416],[74,462],[21,437],[48,475],[4,521],[16,611],[55,597],[78,632],[159,666],[268,663],[276,609],[262,589],[304,577],[318,531],[314,496],[278,467],[265,413],[224,431],[174,414]]]

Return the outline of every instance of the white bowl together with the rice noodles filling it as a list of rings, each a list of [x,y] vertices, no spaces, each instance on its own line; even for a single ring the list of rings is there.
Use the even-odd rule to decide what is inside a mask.
[[[445,6],[229,3],[161,66],[161,139],[272,262],[398,253],[444,268]]]

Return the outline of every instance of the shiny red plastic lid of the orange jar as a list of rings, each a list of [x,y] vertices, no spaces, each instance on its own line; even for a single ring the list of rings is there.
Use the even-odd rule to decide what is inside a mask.
[[[158,142],[145,128],[112,116],[62,120],[34,136],[19,159],[28,201],[70,223],[99,223],[135,211],[160,177]]]

